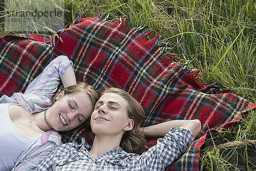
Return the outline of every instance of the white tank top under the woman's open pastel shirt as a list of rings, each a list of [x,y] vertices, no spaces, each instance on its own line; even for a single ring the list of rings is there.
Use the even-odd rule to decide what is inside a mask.
[[[10,171],[20,154],[37,138],[20,132],[12,123],[8,107],[0,104],[0,171]]]

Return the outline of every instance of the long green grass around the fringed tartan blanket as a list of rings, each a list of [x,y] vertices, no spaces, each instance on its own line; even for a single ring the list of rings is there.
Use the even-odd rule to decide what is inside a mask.
[[[66,0],[64,6],[66,24],[75,20],[78,9],[82,17],[97,17],[102,12],[109,14],[109,20],[130,14],[131,27],[146,23],[155,31],[148,39],[160,33],[159,45],[169,42],[169,52],[184,56],[184,62],[192,61],[190,67],[206,72],[198,82],[217,84],[223,90],[231,88],[256,103],[253,0]],[[3,28],[0,34],[6,34]],[[202,147],[201,170],[256,170],[256,145],[217,148],[226,142],[255,140],[255,114],[249,112],[233,127],[209,136]]]

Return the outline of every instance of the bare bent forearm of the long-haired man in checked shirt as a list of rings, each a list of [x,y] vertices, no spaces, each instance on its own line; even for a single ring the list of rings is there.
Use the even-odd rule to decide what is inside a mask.
[[[168,122],[163,122],[161,124],[152,125],[145,128],[140,128],[144,136],[152,137],[163,137],[169,132],[171,128],[183,127],[192,132],[192,134],[197,137],[201,132],[201,122],[198,119],[194,120],[173,120]]]

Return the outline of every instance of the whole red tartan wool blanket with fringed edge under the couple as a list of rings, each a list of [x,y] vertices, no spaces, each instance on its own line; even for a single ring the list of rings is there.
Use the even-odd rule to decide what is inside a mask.
[[[82,18],[44,35],[6,35],[0,38],[0,93],[24,92],[28,84],[58,55],[73,61],[76,77],[98,90],[119,87],[130,93],[146,112],[143,126],[173,119],[199,119],[202,132],[186,153],[166,170],[199,169],[201,145],[209,130],[222,130],[256,105],[233,93],[209,94],[215,86],[196,82],[198,72],[184,69],[175,56],[166,58],[155,47],[159,35],[147,41],[145,26],[128,28],[129,20]],[[217,87],[218,88],[218,87]],[[83,127],[63,133],[63,142],[87,138]],[[148,139],[147,148],[156,143]]]

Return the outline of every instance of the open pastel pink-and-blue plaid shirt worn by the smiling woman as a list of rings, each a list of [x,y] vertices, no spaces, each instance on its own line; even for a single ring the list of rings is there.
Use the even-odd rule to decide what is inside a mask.
[[[13,93],[11,97],[3,95],[0,103],[19,104],[31,114],[46,110],[51,105],[53,93],[57,90],[61,76],[70,64],[73,65],[67,56],[58,56],[29,84],[24,94]],[[61,144],[61,136],[57,131],[47,131],[20,154],[12,171],[30,171]]]

